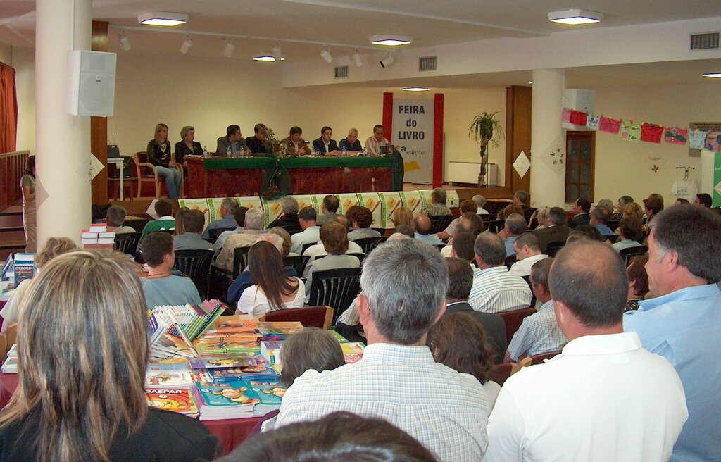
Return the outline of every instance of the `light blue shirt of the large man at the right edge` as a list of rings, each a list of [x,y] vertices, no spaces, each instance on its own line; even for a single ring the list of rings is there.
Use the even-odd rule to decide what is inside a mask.
[[[624,314],[646,350],[664,356],[684,384],[689,420],[671,461],[721,461],[721,290],[699,285],[642,300]],[[643,393],[643,390],[630,391]]]

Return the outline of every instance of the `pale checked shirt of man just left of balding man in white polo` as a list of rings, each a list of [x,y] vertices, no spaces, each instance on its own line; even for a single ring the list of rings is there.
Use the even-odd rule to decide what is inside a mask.
[[[556,322],[553,301],[549,300],[539,308],[538,313],[523,318],[521,327],[508,345],[510,359],[518,361],[524,353],[528,356],[561,350],[568,340]]]

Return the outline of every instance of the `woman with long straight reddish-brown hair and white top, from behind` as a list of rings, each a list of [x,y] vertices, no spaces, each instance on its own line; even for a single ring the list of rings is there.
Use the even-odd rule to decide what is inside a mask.
[[[301,308],[306,298],[301,280],[286,277],[278,249],[258,241],[248,251],[250,278],[255,283],[243,291],[236,314],[260,316],[268,311]]]

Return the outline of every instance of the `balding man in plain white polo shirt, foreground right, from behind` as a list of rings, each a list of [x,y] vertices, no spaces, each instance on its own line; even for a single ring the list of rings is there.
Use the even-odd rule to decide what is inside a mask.
[[[668,461],[688,412],[664,357],[623,332],[628,282],[611,247],[576,241],[549,277],[561,355],[505,381],[488,425],[484,462]],[[583,288],[583,290],[579,290]]]

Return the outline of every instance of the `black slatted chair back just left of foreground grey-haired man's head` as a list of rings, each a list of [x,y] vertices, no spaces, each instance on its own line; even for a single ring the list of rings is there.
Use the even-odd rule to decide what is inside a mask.
[[[310,306],[330,306],[333,308],[333,321],[342,310],[348,308],[361,292],[361,268],[341,268],[313,273]]]

